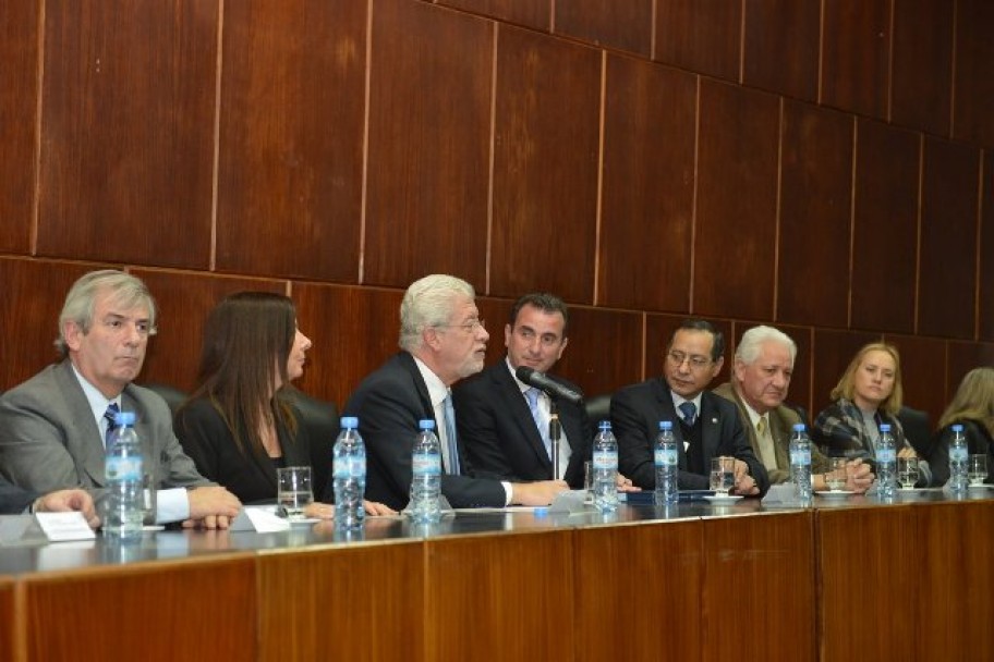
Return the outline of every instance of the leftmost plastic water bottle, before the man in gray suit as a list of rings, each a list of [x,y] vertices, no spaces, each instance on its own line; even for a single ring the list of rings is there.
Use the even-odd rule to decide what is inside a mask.
[[[107,497],[104,510],[104,535],[122,541],[142,538],[145,515],[142,444],[134,429],[135,413],[118,412],[107,444],[104,478]]]

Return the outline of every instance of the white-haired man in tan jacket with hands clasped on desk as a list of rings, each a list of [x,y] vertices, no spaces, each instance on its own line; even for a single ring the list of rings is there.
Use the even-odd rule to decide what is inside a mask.
[[[804,422],[784,405],[796,358],[797,345],[789,335],[773,327],[753,327],[736,347],[731,381],[714,390],[736,404],[749,443],[774,485],[790,480],[790,433],[795,424]],[[828,489],[825,473],[829,468],[828,458],[811,444],[815,490]],[[846,473],[846,489],[853,492],[865,492],[873,481],[870,467],[859,461],[850,462]]]

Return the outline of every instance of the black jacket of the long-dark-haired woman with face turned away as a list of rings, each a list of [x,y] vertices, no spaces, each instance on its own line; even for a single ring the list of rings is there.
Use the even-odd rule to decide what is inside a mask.
[[[296,434],[291,434],[283,426],[278,426],[280,446],[283,452],[283,466],[310,467],[313,465],[311,453],[311,439],[299,414]],[[244,429],[243,421],[239,425]],[[276,500],[276,465],[272,458],[254,453],[246,449],[242,452],[234,442],[234,437],[221,417],[206,397],[198,397],[185,404],[178,413],[174,421],[177,437],[183,450],[196,463],[199,473],[228,488],[242,503],[260,501],[272,502]],[[324,458],[327,465],[331,461],[328,455]],[[322,500],[327,482],[328,471],[312,471],[312,480],[317,478],[322,482],[314,482],[312,489],[314,497]]]

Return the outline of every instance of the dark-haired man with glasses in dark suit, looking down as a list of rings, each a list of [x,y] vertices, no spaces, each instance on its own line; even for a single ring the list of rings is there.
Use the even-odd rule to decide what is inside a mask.
[[[725,340],[704,320],[687,320],[666,350],[663,378],[621,389],[611,399],[618,438],[619,470],[642,489],[656,485],[653,443],[660,420],[670,420],[677,438],[678,482],[682,490],[710,487],[711,459],[735,458],[735,492],[765,494],[769,479],[756,459],[735,405],[705,388],[722,370]]]

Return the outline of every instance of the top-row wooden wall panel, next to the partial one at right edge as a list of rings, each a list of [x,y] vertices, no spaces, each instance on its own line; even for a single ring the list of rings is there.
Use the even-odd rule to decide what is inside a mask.
[[[949,135],[955,5],[948,0],[894,0],[894,123]]]

